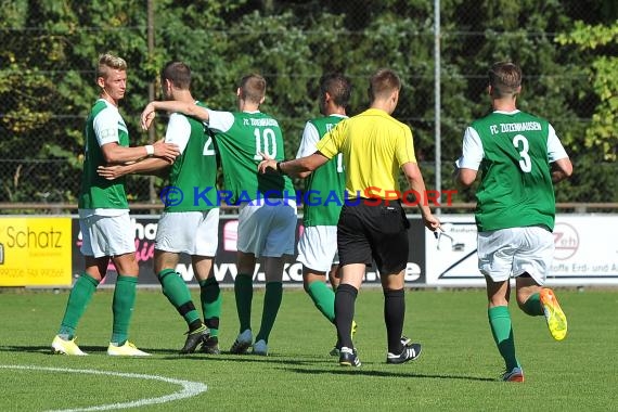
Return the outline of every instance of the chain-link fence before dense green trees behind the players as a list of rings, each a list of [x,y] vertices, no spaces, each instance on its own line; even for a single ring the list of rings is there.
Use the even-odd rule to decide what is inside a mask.
[[[129,63],[129,95],[120,111],[131,144],[150,139],[139,130],[138,119],[150,99],[149,87],[151,93],[157,89],[153,81],[158,68],[180,59],[193,68],[195,94],[207,96],[215,108],[233,110],[240,76],[262,73],[269,81],[262,110],[281,120],[288,157],[296,154],[305,121],[318,115],[317,82],[323,72],[343,70],[352,79],[350,114],[356,114],[366,106],[369,75],[390,66],[404,81],[395,116],[413,129],[428,186],[435,182],[436,138],[440,139],[442,188],[451,184],[451,164],[465,126],[489,108],[487,67],[498,60],[514,60],[525,72],[520,108],[551,120],[569,153],[580,155],[574,157],[576,170],[593,170],[567,183],[558,201],[617,201],[611,177],[618,168],[603,163],[603,155],[591,153],[582,141],[598,104],[590,77],[594,53],[578,54],[555,41],[575,21],[603,23],[604,2],[549,2],[546,8],[497,2],[502,5],[495,8],[494,2],[442,1],[439,33],[434,24],[438,1],[4,3],[0,203],[75,205],[82,128],[96,98],[94,62],[107,50]],[[441,90],[439,129],[436,73]],[[158,121],[157,136],[163,136],[164,124]],[[593,190],[600,182],[604,189]],[[130,201],[156,203],[160,184],[154,180],[153,191],[152,179],[131,177]],[[458,201],[471,198],[472,193],[464,192]]]

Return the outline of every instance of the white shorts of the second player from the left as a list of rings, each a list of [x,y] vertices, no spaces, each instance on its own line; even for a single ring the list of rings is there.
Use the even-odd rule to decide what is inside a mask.
[[[219,208],[204,211],[163,213],[155,249],[214,257],[219,244]]]

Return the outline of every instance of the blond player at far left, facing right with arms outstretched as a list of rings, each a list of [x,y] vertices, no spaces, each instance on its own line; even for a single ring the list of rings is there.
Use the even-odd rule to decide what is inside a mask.
[[[171,162],[178,155],[178,147],[162,142],[129,147],[127,126],[118,112],[118,102],[125,96],[127,87],[127,63],[123,59],[108,53],[100,56],[96,86],[101,89],[101,95],[86,121],[86,153],[79,194],[81,253],[86,270],[70,291],[60,331],[52,342],[52,351],[86,355],[75,343],[75,331],[96,286],[105,276],[111,259],[118,278],[114,289],[114,322],[107,353],[147,356],[128,340],[139,267],[125,181],[110,182],[96,175],[96,168],[153,155]]]

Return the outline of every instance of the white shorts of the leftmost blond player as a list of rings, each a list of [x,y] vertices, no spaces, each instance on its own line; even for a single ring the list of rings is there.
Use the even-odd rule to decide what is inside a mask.
[[[136,228],[128,209],[118,216],[91,215],[79,210],[79,229],[83,256],[100,258],[136,253]]]

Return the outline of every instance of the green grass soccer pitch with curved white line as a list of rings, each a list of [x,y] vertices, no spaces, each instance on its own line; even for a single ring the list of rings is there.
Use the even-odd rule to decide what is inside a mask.
[[[198,292],[192,291],[195,302]],[[285,289],[270,356],[227,353],[237,334],[234,296],[223,292],[220,356],[180,357],[185,324],[159,291],[140,289],[130,339],[150,358],[105,355],[112,292],[93,297],[78,327],[88,357],[51,356],[68,294],[2,291],[1,411],[463,410],[609,411],[618,408],[618,291],[557,289],[569,321],[554,342],[544,319],[511,312],[524,384],[499,381],[502,360],[487,322],[485,292],[407,291],[404,334],[423,345],[416,361],[389,365],[383,295],[362,289],[355,338],[362,366],[329,356],[335,330],[301,289]],[[254,295],[259,329],[263,291]],[[99,408],[93,408],[99,407]],[[136,410],[133,409],[133,410]]]

